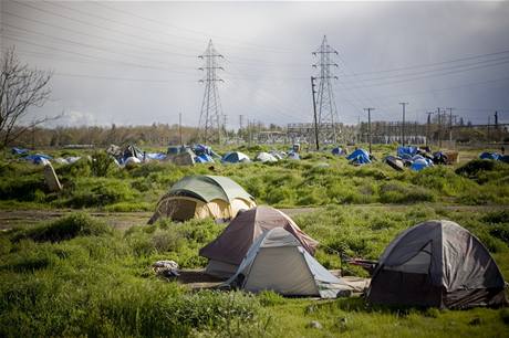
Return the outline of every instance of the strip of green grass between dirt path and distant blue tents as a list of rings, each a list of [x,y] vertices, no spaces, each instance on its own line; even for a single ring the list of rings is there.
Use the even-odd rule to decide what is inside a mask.
[[[263,148],[241,147],[251,156],[260,149]],[[382,146],[374,151],[378,159],[394,152],[395,149]],[[460,158],[474,158],[478,154],[463,151]],[[53,151],[53,155],[80,152]],[[307,152],[301,161],[268,165],[176,167],[150,162],[121,169],[101,166],[104,162],[101,152],[90,155],[94,160],[83,158],[73,165],[55,165],[64,186],[60,193],[46,191],[41,167],[7,157],[0,165],[0,208],[152,211],[173,183],[195,173],[228,176],[256,197],[259,204],[279,208],[415,202],[509,204],[509,166],[486,160],[476,160],[466,167],[463,160],[450,167],[398,172],[382,161],[354,167],[345,158],[329,152]]]

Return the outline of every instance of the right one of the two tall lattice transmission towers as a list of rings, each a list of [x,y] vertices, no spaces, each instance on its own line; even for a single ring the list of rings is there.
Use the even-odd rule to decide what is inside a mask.
[[[334,93],[332,88],[332,80],[337,78],[331,67],[337,67],[337,64],[333,62],[334,54],[337,52],[329,45],[326,36],[323,35],[323,41],[320,47],[313,52],[313,55],[319,57],[316,64],[313,67],[319,68],[319,76],[315,78],[320,80],[318,84],[316,106],[318,106],[318,129],[320,140],[322,142],[336,142],[337,141],[337,108],[335,105]]]

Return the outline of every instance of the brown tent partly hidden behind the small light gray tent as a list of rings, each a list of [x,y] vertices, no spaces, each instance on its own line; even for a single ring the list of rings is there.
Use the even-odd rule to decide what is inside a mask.
[[[249,247],[264,231],[283,228],[302,244],[310,254],[314,254],[318,242],[303,233],[283,212],[267,205],[240,211],[222,233],[199,254],[209,258],[207,273],[218,277],[233,275],[246,256]]]

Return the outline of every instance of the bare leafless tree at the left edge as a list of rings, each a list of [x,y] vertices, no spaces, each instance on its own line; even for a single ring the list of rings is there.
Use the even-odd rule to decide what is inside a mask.
[[[4,148],[27,130],[51,118],[34,118],[21,124],[29,107],[42,107],[50,97],[51,72],[30,68],[8,49],[1,59],[0,75],[0,148]]]

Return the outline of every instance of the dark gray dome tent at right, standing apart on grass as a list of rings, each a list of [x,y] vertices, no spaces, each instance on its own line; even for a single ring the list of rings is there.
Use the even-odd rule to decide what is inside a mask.
[[[507,304],[503,277],[488,250],[450,221],[427,221],[399,234],[380,257],[373,304],[467,308]]]

